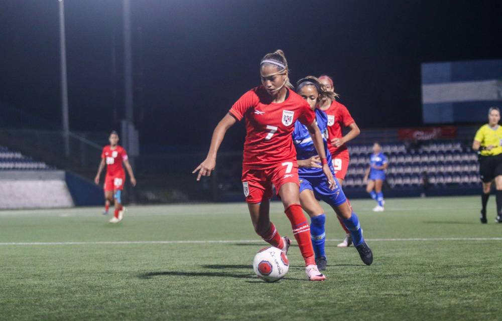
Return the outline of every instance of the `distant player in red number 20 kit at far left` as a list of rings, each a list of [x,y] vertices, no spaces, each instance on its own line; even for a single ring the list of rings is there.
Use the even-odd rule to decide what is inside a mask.
[[[126,181],[126,173],[122,167],[122,162],[124,163],[124,166],[126,166],[129,177],[131,178],[131,184],[133,186],[136,186],[136,178],[134,177],[133,169],[129,164],[126,149],[123,149],[122,146],[117,144],[117,132],[112,131],[108,140],[110,141],[110,144],[103,147],[103,151],[101,153],[101,163],[99,163],[94,183],[99,185],[99,177],[106,165],[106,176],[103,185],[105,199],[103,214],[108,214],[108,208],[110,207],[110,203],[113,201],[115,211],[109,222],[118,223],[122,220],[123,213],[126,211],[126,208],[122,206],[122,201],[120,199],[120,194],[123,190],[124,182]]]

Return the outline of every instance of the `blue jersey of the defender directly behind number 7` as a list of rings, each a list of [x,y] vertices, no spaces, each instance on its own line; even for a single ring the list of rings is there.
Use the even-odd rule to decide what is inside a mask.
[[[328,161],[329,168],[335,175],[335,171],[333,169],[333,163],[331,162],[331,154],[328,150],[327,137],[328,137],[328,117],[326,113],[322,110],[315,110],[315,118],[317,122],[317,126],[322,133],[323,141],[324,141],[324,151],[326,153],[326,158]],[[312,141],[312,137],[310,137],[309,130],[307,127],[299,121],[295,122],[295,130],[293,131],[293,143],[295,144],[297,159],[308,159],[312,156],[317,156],[317,150],[315,149],[314,142]],[[298,175],[300,178],[302,177],[324,177],[324,173],[322,169],[318,168],[301,168],[298,170]]]

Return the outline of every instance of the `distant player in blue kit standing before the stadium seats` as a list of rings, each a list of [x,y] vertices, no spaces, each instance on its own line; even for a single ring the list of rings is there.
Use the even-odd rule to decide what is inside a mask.
[[[389,163],[387,157],[382,152],[382,146],[378,142],[373,144],[373,153],[369,158],[369,167],[364,174],[363,181],[367,181],[366,192],[371,198],[376,201],[376,206],[373,212],[384,211],[384,193],[382,193],[382,185],[385,181],[385,170]]]

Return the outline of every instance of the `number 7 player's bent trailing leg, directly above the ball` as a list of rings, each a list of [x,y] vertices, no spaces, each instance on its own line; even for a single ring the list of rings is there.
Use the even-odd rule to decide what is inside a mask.
[[[256,234],[260,235],[270,245],[282,249],[287,254],[291,240],[288,237],[281,237],[274,223],[270,221],[270,201],[262,200],[261,203],[256,204],[248,203],[247,208]]]

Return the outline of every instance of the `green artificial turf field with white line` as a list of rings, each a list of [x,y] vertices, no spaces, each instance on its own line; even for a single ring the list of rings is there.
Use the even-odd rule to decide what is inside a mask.
[[[117,225],[100,208],[0,211],[0,320],[500,320],[502,225],[493,197],[481,225],[479,203],[355,200],[373,265],[336,247],[328,211],[328,279],[307,281],[293,246],[277,283],[253,273],[265,243],[243,203],[129,207]]]

